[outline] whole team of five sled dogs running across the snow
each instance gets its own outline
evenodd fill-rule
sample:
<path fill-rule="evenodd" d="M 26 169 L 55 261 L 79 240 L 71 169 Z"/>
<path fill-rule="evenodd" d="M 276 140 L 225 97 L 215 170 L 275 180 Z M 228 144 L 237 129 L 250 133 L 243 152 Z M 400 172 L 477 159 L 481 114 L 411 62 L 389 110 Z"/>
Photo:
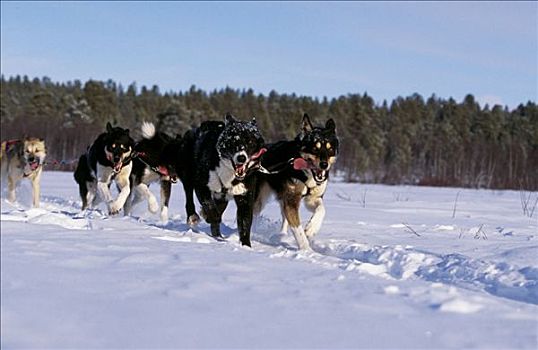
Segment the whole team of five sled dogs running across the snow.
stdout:
<path fill-rule="evenodd" d="M 200 215 L 210 225 L 211 235 L 222 238 L 222 214 L 233 199 L 239 239 L 250 246 L 253 216 L 275 195 L 282 212 L 282 233 L 291 230 L 299 249 L 310 249 L 325 216 L 323 195 L 339 149 L 333 119 L 325 126 L 313 126 L 305 114 L 295 139 L 272 144 L 265 143 L 255 119 L 241 121 L 230 114 L 224 121 L 202 122 L 175 138 L 148 122 L 142 123 L 140 131 L 142 139 L 135 142 L 128 129 L 107 123 L 106 131 L 80 156 L 74 178 L 82 210 L 104 202 L 109 214 L 123 209 L 129 215 L 134 205 L 145 200 L 150 212 L 160 209 L 165 222 L 172 183 L 180 180 L 189 225 L 200 221 L 194 205 L 196 193 Z M 9 201 L 15 201 L 17 183 L 28 178 L 33 205 L 39 206 L 45 156 L 41 139 L 2 143 L 2 178 L 8 180 Z M 110 191 L 112 182 L 118 189 L 115 197 Z M 160 204 L 149 190 L 154 182 L 161 187 Z M 301 200 L 312 212 L 304 227 L 299 216 Z"/>

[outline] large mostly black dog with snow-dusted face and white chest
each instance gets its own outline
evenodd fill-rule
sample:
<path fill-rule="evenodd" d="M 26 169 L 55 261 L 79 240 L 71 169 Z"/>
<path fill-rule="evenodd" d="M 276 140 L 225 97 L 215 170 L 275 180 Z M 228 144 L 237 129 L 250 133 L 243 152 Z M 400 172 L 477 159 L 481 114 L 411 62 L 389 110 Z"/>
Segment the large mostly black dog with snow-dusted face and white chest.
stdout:
<path fill-rule="evenodd" d="M 193 151 L 190 161 L 193 171 L 187 182 L 194 186 L 202 205 L 201 215 L 210 224 L 211 234 L 222 237 L 222 213 L 233 198 L 237 205 L 239 239 L 241 244 L 250 246 L 257 179 L 253 173 L 265 152 L 264 139 L 255 119 L 243 122 L 227 114 L 224 122 L 206 121 L 188 131 L 184 138 L 186 149 L 190 143 Z"/>

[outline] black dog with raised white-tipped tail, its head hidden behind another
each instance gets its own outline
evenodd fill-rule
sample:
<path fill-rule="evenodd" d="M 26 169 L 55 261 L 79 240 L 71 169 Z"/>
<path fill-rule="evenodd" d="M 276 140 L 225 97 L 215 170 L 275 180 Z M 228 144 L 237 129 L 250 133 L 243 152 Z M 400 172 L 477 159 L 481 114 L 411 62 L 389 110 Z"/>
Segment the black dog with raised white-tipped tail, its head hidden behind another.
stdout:
<path fill-rule="evenodd" d="M 153 123 L 144 122 L 141 127 L 142 140 L 134 147 L 131 171 L 131 192 L 125 202 L 124 213 L 129 215 L 133 206 L 146 199 L 148 210 L 156 213 L 159 204 L 149 185 L 159 182 L 161 186 L 161 221 L 168 221 L 168 204 L 172 183 L 181 175 L 182 138 L 156 131 Z"/>

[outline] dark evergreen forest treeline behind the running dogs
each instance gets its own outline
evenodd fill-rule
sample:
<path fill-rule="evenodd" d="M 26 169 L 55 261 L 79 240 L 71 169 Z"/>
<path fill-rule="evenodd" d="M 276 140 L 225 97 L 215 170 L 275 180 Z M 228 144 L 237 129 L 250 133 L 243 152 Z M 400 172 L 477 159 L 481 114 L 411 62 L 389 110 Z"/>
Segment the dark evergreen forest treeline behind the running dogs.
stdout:
<path fill-rule="evenodd" d="M 303 113 L 316 123 L 334 118 L 340 138 L 336 169 L 347 181 L 387 184 L 538 189 L 538 107 L 484 106 L 467 95 L 418 94 L 376 104 L 364 94 L 318 99 L 256 94 L 251 89 L 161 92 L 112 80 L 58 83 L 1 77 L 2 140 L 46 140 L 49 159 L 72 168 L 106 122 L 132 130 L 153 121 L 170 135 L 231 112 L 256 117 L 266 141 L 295 137 Z"/>

